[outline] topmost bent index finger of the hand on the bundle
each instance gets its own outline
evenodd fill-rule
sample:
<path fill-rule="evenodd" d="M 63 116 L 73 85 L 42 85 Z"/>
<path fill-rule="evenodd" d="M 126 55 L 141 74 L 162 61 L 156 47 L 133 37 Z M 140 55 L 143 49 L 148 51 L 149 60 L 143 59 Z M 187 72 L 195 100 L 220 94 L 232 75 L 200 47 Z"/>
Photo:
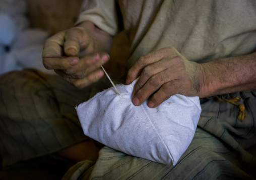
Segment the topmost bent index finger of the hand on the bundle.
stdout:
<path fill-rule="evenodd" d="M 140 76 L 142 70 L 146 66 L 160 61 L 162 58 L 163 56 L 161 56 L 158 51 L 151 52 L 147 55 L 140 57 L 132 66 L 132 68 L 127 72 L 126 84 L 131 84 L 135 79 Z"/>

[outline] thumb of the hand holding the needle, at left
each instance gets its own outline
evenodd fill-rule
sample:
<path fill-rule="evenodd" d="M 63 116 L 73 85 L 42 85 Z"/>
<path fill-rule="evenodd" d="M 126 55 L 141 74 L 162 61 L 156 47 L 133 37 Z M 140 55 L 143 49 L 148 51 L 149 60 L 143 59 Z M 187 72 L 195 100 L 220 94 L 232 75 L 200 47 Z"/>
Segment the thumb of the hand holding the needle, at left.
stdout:
<path fill-rule="evenodd" d="M 85 49 L 89 44 L 89 37 L 83 31 L 82 27 L 67 31 L 64 42 L 64 52 L 67 56 L 78 56 L 80 50 Z"/>

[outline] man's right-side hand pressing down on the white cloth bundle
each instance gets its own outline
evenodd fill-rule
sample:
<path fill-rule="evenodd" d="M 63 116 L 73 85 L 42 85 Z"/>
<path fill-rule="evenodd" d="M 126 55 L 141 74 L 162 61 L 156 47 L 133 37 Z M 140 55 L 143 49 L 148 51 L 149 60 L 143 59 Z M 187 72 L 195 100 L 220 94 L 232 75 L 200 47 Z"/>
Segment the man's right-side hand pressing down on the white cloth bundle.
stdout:
<path fill-rule="evenodd" d="M 151 108 L 175 94 L 199 96 L 204 77 L 200 64 L 186 60 L 173 47 L 142 56 L 129 70 L 126 84 L 139 76 L 132 101 L 134 105 L 141 105 L 150 98 L 148 106 Z"/>

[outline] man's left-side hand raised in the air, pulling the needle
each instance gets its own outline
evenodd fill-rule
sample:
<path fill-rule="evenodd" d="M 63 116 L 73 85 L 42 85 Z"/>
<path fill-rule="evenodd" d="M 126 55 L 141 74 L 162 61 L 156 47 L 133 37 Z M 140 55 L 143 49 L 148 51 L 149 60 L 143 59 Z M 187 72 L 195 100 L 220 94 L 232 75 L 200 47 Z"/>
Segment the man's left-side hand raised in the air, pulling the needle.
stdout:
<path fill-rule="evenodd" d="M 49 38 L 42 53 L 46 69 L 83 88 L 103 77 L 101 65 L 109 60 L 112 37 L 91 22 L 57 33 Z"/>

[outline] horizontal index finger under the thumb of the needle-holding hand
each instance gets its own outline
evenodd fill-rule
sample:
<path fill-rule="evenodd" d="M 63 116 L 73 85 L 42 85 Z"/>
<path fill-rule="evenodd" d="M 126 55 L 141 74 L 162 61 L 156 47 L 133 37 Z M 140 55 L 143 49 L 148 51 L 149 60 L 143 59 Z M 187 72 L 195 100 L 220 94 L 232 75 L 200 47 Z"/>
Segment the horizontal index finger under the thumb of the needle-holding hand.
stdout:
<path fill-rule="evenodd" d="M 68 69 L 79 62 L 78 57 L 43 57 L 43 65 L 46 69 Z"/>

